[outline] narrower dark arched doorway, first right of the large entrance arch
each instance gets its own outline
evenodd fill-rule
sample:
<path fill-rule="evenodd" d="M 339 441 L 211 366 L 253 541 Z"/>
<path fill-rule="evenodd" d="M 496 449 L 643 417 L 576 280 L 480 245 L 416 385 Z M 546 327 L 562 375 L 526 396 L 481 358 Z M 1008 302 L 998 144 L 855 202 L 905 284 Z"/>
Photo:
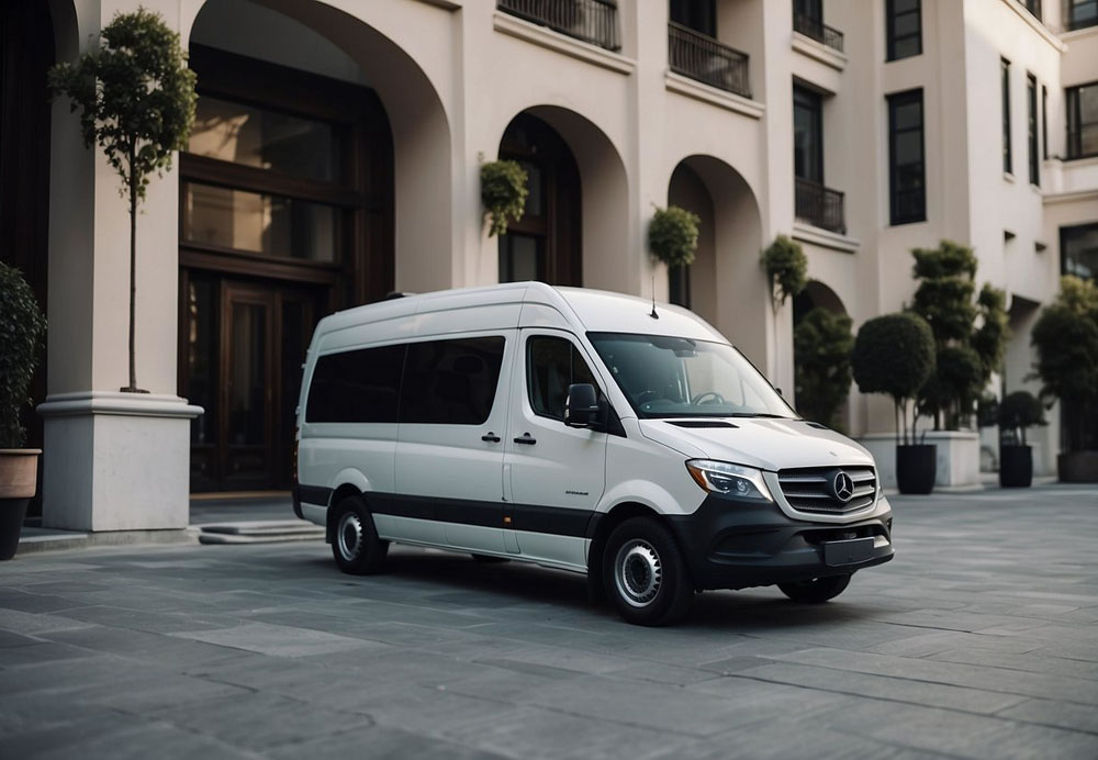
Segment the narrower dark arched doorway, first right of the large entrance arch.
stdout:
<path fill-rule="evenodd" d="M 541 119 L 520 113 L 500 141 L 500 158 L 526 170 L 526 212 L 500 236 L 500 282 L 583 282 L 580 169 L 568 143 Z"/>

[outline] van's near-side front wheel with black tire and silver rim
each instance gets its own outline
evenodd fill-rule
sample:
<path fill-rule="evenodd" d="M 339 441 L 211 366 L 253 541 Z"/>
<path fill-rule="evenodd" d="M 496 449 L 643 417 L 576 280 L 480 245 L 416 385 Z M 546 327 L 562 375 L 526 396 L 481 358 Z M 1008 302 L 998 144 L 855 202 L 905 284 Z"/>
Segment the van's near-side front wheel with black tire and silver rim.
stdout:
<path fill-rule="evenodd" d="M 603 589 L 634 625 L 670 625 L 694 599 L 690 569 L 674 536 L 657 521 L 632 517 L 617 526 L 603 551 Z"/>

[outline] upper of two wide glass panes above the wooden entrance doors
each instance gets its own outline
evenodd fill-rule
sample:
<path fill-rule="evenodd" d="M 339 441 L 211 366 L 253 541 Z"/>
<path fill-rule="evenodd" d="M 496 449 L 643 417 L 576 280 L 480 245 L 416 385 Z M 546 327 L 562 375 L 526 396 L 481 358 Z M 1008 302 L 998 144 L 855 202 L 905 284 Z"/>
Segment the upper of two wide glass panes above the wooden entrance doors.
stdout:
<path fill-rule="evenodd" d="M 330 124 L 209 96 L 199 98 L 187 149 L 309 179 L 337 179 Z"/>

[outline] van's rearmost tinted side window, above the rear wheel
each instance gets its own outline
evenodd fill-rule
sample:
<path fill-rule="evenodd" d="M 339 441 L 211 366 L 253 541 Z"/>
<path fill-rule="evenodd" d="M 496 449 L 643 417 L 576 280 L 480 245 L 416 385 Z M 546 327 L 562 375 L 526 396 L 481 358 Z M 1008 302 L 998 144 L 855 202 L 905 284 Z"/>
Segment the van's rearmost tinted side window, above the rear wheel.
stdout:
<path fill-rule="evenodd" d="M 396 422 L 401 346 L 326 354 L 316 360 L 306 422 Z"/>

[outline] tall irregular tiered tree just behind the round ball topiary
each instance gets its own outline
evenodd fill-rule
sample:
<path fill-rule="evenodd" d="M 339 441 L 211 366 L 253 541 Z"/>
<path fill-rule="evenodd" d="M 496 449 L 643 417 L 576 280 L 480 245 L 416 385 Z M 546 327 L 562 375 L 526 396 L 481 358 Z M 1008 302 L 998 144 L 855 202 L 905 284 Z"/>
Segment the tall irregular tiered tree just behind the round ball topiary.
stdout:
<path fill-rule="evenodd" d="M 919 280 L 911 310 L 930 325 L 937 351 L 918 409 L 933 417 L 934 429 L 955 428 L 1002 364 L 1006 294 L 985 284 L 974 300 L 977 260 L 968 246 L 942 241 L 911 255 Z"/>

